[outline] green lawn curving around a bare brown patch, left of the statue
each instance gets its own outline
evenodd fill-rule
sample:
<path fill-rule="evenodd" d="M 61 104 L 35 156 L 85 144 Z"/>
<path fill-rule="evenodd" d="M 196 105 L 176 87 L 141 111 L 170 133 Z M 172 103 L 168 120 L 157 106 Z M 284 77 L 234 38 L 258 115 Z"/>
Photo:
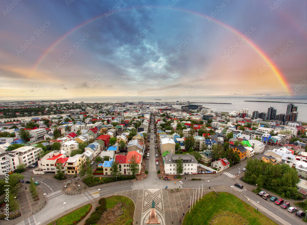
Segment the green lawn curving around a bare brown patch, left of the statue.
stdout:
<path fill-rule="evenodd" d="M 115 196 L 107 197 L 106 202 L 107 202 L 107 209 L 113 208 L 117 203 L 122 202 L 122 210 L 124 213 L 118 217 L 115 223 L 103 223 L 103 224 L 105 225 L 133 224 L 134 203 L 130 198 L 127 198 L 121 195 L 115 195 Z"/>

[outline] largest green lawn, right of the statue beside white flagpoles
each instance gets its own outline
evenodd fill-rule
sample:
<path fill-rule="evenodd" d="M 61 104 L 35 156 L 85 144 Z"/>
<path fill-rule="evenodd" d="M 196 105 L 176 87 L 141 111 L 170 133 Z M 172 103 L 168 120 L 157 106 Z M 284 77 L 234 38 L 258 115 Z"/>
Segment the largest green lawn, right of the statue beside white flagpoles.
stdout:
<path fill-rule="evenodd" d="M 222 216 L 220 216 L 221 214 Z M 214 218 L 215 216 L 216 218 Z M 212 218 L 214 219 L 212 220 Z M 203 199 L 196 203 L 196 206 L 193 206 L 191 213 L 186 213 L 182 224 L 205 225 L 210 223 L 212 225 L 243 225 L 244 223 L 249 225 L 277 224 L 262 213 L 257 212 L 256 209 L 247 203 L 226 192 L 219 192 L 219 195 L 211 192 L 203 196 Z"/>

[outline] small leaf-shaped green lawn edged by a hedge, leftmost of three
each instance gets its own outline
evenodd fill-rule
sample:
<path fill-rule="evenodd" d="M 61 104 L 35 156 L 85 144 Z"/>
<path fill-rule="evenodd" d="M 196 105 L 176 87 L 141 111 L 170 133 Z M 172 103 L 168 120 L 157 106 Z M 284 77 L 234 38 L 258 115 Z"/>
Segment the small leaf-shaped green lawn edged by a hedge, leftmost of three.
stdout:
<path fill-rule="evenodd" d="M 59 219 L 52 221 L 52 223 L 56 222 L 56 225 L 76 224 L 87 215 L 87 213 L 91 210 L 91 206 L 92 204 L 87 204 L 80 208 L 77 208 L 76 210 L 66 214 L 65 216 L 62 216 Z M 60 222 L 58 223 L 58 221 Z M 52 223 L 49 223 L 48 225 L 52 225 Z"/>

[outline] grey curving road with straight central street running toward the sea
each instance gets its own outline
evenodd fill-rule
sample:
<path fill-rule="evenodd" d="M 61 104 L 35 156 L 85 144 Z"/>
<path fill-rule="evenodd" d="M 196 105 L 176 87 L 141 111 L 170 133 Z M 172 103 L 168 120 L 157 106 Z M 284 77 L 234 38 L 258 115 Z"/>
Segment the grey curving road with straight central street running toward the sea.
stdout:
<path fill-rule="evenodd" d="M 171 209 L 173 211 L 167 212 L 169 208 L 164 208 L 164 204 L 166 204 L 168 199 L 168 191 L 164 189 L 165 186 L 168 186 L 169 189 L 177 189 L 181 188 L 184 192 L 181 193 L 185 194 L 185 199 L 187 201 L 181 202 L 181 210 L 185 210 L 188 206 L 188 199 L 190 198 L 190 195 L 194 192 L 198 192 L 199 190 L 202 191 L 202 187 L 204 188 L 204 194 L 208 193 L 208 191 L 212 191 L 215 187 L 219 190 L 226 191 L 226 192 L 232 192 L 236 196 L 238 196 L 238 193 L 241 193 L 241 199 L 243 196 L 243 201 L 248 202 L 252 207 L 256 208 L 257 202 L 259 202 L 259 210 L 261 212 L 265 213 L 269 218 L 273 219 L 274 221 L 277 221 L 279 224 L 305 224 L 301 221 L 301 218 L 295 216 L 295 213 L 290 213 L 287 210 L 284 210 L 280 208 L 279 206 L 275 205 L 274 203 L 270 201 L 266 201 L 262 199 L 260 196 L 256 195 L 255 193 L 251 192 L 251 189 L 253 189 L 253 186 L 246 184 L 245 182 L 241 182 L 243 184 L 244 188 L 239 189 L 238 187 L 232 187 L 235 182 L 237 182 L 236 175 L 239 173 L 239 178 L 242 178 L 244 175 L 244 172 L 242 169 L 245 167 L 246 162 L 242 162 L 239 165 L 235 165 L 235 167 L 229 169 L 228 171 L 221 172 L 218 175 L 216 174 L 197 174 L 197 175 L 187 175 L 186 177 L 183 177 L 181 179 L 181 182 L 177 181 L 176 184 L 173 181 L 165 181 L 160 180 L 157 176 L 157 170 L 159 170 L 160 165 L 155 164 L 155 154 L 157 154 L 157 150 L 155 149 L 155 143 L 154 143 L 154 132 L 153 132 L 153 123 L 150 125 L 150 135 L 153 137 L 153 140 L 150 139 L 150 159 L 146 162 L 146 169 L 148 170 L 148 174 L 144 174 L 144 178 L 142 180 L 138 180 L 137 182 L 125 182 L 125 183 L 112 183 L 111 186 L 97 186 L 95 189 L 89 188 L 87 191 L 83 191 L 80 194 L 69 196 L 66 195 L 62 191 L 62 187 L 64 186 L 64 183 L 54 183 L 48 178 L 44 177 L 33 177 L 35 180 L 38 180 L 39 182 L 43 182 L 41 184 L 41 188 L 44 192 L 49 193 L 47 195 L 47 205 L 45 208 L 43 208 L 40 212 L 34 214 L 33 216 L 30 216 L 29 218 L 24 219 L 21 221 L 20 225 L 38 225 L 38 224 L 46 224 L 47 222 L 50 223 L 52 220 L 63 216 L 66 211 L 72 211 L 73 209 L 76 209 L 80 207 L 80 205 L 84 205 L 88 202 L 93 203 L 93 201 L 98 200 L 100 197 L 103 196 L 110 196 L 114 194 L 122 194 L 127 197 L 130 197 L 131 199 L 135 199 L 134 204 L 136 205 L 135 209 L 135 219 L 139 220 L 142 219 L 142 215 L 140 217 L 139 213 L 143 213 L 145 211 L 140 211 L 138 208 L 140 204 L 142 206 L 145 205 L 145 193 L 151 197 L 157 197 L 161 194 L 161 205 L 163 206 L 163 212 L 161 211 L 161 215 L 176 215 L 178 212 L 174 212 L 176 209 Z M 257 158 L 260 157 L 256 156 Z M 145 178 L 146 176 L 146 178 Z M 25 174 L 25 177 L 29 179 L 30 174 L 29 171 Z M 185 179 L 186 178 L 186 179 Z M 192 181 L 190 178 L 201 178 L 200 181 Z M 224 186 L 223 186 L 224 185 Z M 208 187 L 211 187 L 209 189 Z M 98 188 L 100 189 L 98 192 Z M 190 191 L 189 191 L 190 190 Z M 50 191 L 53 191 L 50 193 Z M 186 196 L 188 194 L 188 196 Z M 165 203 L 163 203 L 165 201 Z M 180 200 L 181 201 L 181 200 Z M 65 205 L 63 203 L 66 203 Z M 148 203 L 146 203 L 148 204 Z M 142 208 L 142 207 L 141 207 Z M 146 208 L 146 207 L 145 207 Z M 143 210 L 143 208 L 142 208 Z M 178 214 L 179 215 L 179 214 Z M 182 215 L 182 212 L 181 212 Z M 173 217 L 172 217 L 173 219 Z M 134 221 L 135 224 L 136 221 Z M 176 223 L 177 224 L 177 223 Z"/>

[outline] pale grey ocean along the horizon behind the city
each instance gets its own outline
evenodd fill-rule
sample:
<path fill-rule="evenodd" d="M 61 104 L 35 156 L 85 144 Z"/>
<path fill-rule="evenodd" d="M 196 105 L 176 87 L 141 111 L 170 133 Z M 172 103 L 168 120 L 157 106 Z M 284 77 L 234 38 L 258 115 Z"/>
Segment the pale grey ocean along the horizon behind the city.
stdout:
<path fill-rule="evenodd" d="M 286 113 L 287 104 L 294 103 L 297 106 L 298 116 L 297 121 L 307 122 L 307 99 L 264 99 L 264 98 L 242 98 L 237 94 L 229 97 L 197 97 L 197 96 L 91 96 L 82 97 L 76 99 L 73 97 L 49 97 L 49 98 L 33 98 L 24 100 L 59 100 L 68 99 L 70 102 L 80 103 L 101 103 L 101 102 L 173 102 L 175 105 L 173 107 L 181 108 L 182 105 L 177 105 L 176 102 L 193 102 L 194 104 L 199 104 L 204 107 L 210 108 L 212 111 L 223 111 L 223 112 L 238 112 L 242 108 L 248 109 L 248 114 L 252 114 L 253 111 L 267 112 L 269 107 L 274 107 L 277 109 L 277 114 Z M 0 99 L 2 100 L 21 100 L 21 99 Z M 272 103 L 272 102 L 246 102 L 246 101 L 280 101 L 283 103 Z M 231 103 L 231 104 L 212 104 L 212 103 Z M 306 103 L 306 104 L 302 104 Z M 1 121 L 1 120 L 0 120 Z"/>

